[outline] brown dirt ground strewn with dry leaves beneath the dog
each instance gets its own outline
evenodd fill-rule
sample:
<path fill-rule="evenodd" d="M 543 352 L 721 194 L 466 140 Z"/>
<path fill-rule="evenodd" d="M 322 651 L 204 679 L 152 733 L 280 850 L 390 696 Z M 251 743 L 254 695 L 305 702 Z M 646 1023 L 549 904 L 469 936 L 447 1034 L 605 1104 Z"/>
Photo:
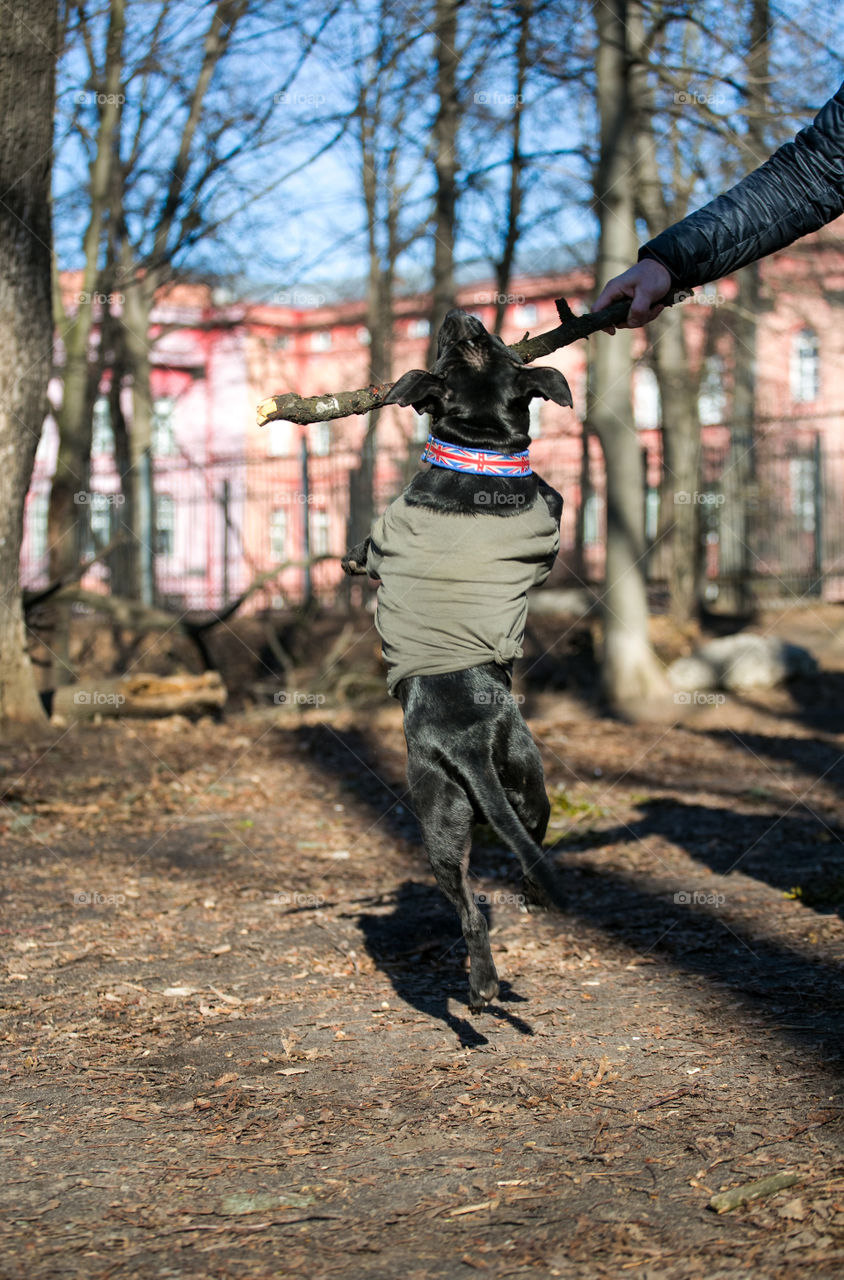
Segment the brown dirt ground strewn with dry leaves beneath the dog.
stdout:
<path fill-rule="evenodd" d="M 844 611 L 780 630 L 675 724 L 528 689 L 569 905 L 479 832 L 476 1016 L 385 699 L 0 751 L 0 1275 L 841 1275 Z"/>

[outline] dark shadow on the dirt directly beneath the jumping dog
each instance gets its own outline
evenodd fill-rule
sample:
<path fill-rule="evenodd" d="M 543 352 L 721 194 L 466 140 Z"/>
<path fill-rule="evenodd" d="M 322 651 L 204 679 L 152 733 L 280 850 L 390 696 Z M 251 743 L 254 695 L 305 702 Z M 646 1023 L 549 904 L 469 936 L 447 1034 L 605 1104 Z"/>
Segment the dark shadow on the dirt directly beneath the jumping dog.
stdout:
<path fill-rule="evenodd" d="M 455 933 L 457 922 L 438 888 L 406 879 L 383 901 L 391 902 L 389 913 L 361 911 L 356 920 L 366 951 L 389 978 L 400 1000 L 443 1021 L 464 1048 L 489 1043 L 479 1029 L 484 1018 L 506 1020 L 521 1036 L 534 1034 L 529 1023 L 503 1007 L 525 1001 L 506 982 L 498 1000 L 480 1015 L 467 1011 L 467 1016 L 459 1016 L 450 1009 L 450 1002 L 466 1005 L 465 975 L 455 980 L 459 957 L 466 954 L 466 947 L 462 936 Z"/>

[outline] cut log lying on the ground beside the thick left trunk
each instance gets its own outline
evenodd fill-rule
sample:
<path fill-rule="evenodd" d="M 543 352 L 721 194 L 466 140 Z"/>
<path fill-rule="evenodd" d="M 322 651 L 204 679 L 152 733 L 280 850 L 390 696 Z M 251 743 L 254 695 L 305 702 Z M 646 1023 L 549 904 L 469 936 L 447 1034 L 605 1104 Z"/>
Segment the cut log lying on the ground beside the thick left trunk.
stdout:
<path fill-rule="evenodd" d="M 207 716 L 222 710 L 225 698 L 225 685 L 216 671 L 201 676 L 134 672 L 118 680 L 90 680 L 56 689 L 53 714 L 65 721 L 97 716 Z"/>

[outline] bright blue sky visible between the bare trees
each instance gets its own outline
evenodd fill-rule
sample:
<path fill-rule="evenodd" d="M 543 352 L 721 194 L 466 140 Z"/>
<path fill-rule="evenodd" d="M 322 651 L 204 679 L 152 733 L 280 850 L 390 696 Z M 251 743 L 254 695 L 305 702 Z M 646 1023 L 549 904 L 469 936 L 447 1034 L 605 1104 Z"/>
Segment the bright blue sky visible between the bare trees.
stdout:
<path fill-rule="evenodd" d="M 159 8 L 137 0 L 129 3 L 129 63 L 141 61 L 149 44 L 150 22 Z M 210 8 L 182 0 L 173 9 L 169 29 L 179 50 L 179 68 L 190 68 L 199 58 Z M 699 204 L 736 177 L 735 155 L 729 145 L 706 131 L 704 109 L 729 123 L 738 102 L 730 81 L 740 76 L 740 55 L 731 47 L 731 33 L 718 32 L 716 38 L 706 31 L 706 19 L 717 15 L 720 6 L 702 4 L 695 8 L 704 29 L 685 50 L 686 60 L 698 68 L 684 83 L 686 101 L 671 104 L 665 96 L 667 90 L 661 90 L 657 105 L 674 111 L 688 134 L 688 160 L 699 169 L 693 204 Z M 199 243 L 183 256 L 184 266 L 232 275 L 241 289 L 264 296 L 295 287 L 311 287 L 315 294 L 360 292 L 368 260 L 359 161 L 351 133 L 307 168 L 295 170 L 348 124 L 356 82 L 366 77 L 370 29 L 366 23 L 361 24 L 361 15 L 368 9 L 374 6 L 361 0 L 353 10 L 333 19 L 292 81 L 302 38 L 319 29 L 324 5 L 312 4 L 310 12 L 302 9 L 298 33 L 270 20 L 274 9 L 265 5 L 238 35 L 225 82 L 209 95 L 211 119 L 219 123 L 227 111 L 234 111 L 248 120 L 250 113 L 260 113 L 272 102 L 272 141 L 260 151 L 247 148 L 213 184 L 204 211 L 228 218 L 228 221 L 213 242 Z M 461 6 L 461 15 L 459 38 L 464 41 L 464 67 L 469 70 L 475 55 L 475 45 L 469 38 L 473 6 Z M 556 83 L 557 51 L 553 45 L 543 47 L 539 42 L 537 51 L 544 58 L 546 70 L 534 74 L 526 92 L 524 145 L 528 151 L 542 154 L 532 174 L 525 209 L 529 227 L 519 251 L 519 266 L 530 271 L 589 261 L 594 247 L 597 223 L 589 207 L 589 177 L 597 122 L 587 15 L 588 6 L 578 4 L 557 5 L 553 14 L 561 41 L 558 65 L 566 69 L 580 58 L 580 74 L 569 83 Z M 772 15 L 774 96 L 788 111 L 772 114 L 771 146 L 791 136 L 799 124 L 808 123 L 811 110 L 838 88 L 841 58 L 836 50 L 844 44 L 840 6 L 831 13 L 818 13 L 817 6 L 785 3 L 772 6 Z M 406 15 L 398 9 L 393 17 L 401 31 L 401 19 L 406 20 Z M 101 47 L 101 23 L 95 26 L 95 36 Z M 572 50 L 570 41 L 581 47 Z M 506 174 L 496 169 L 494 163 L 506 154 L 507 140 L 503 134 L 491 138 L 482 132 L 479 115 L 483 111 L 487 120 L 497 116 L 502 125 L 507 124 L 512 90 L 511 70 L 505 64 L 507 47 L 505 41 L 501 49 L 489 51 L 483 68 L 464 90 L 467 115 L 460 147 L 461 177 L 473 174 L 459 206 L 457 259 L 464 276 L 480 278 L 489 273 L 502 230 Z M 432 61 L 433 56 L 433 41 L 423 33 L 410 58 L 424 70 L 425 59 Z M 55 232 L 59 259 L 65 266 L 79 264 L 85 219 L 85 201 L 79 200 L 79 193 L 85 188 L 87 157 L 73 124 L 96 127 L 95 92 L 77 41 L 60 64 L 56 124 Z M 126 84 L 126 99 L 124 155 L 131 131 L 142 116 L 149 116 L 142 134 L 142 175 L 132 197 L 137 230 L 141 210 L 155 207 L 168 180 L 168 161 L 184 118 L 184 104 L 177 86 L 154 74 L 147 76 L 143 84 L 133 77 Z M 401 209 L 403 227 L 423 224 L 429 210 L 433 188 L 425 145 L 433 109 L 430 93 L 423 86 L 403 122 L 401 177 L 407 184 Z M 231 140 L 223 131 L 220 143 L 236 137 L 237 131 Z M 423 234 L 401 259 L 400 276 L 407 287 L 425 285 L 430 257 L 430 237 Z"/>

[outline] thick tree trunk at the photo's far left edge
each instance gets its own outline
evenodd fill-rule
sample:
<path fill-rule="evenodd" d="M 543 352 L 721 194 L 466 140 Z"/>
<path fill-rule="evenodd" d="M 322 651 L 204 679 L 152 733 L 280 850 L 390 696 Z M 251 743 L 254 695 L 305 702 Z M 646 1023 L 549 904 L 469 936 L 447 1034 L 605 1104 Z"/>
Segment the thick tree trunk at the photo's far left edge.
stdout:
<path fill-rule="evenodd" d="M 6 10 L 0 42 L 0 732 L 46 724 L 26 646 L 23 507 L 53 360 L 50 170 L 56 0 Z"/>

